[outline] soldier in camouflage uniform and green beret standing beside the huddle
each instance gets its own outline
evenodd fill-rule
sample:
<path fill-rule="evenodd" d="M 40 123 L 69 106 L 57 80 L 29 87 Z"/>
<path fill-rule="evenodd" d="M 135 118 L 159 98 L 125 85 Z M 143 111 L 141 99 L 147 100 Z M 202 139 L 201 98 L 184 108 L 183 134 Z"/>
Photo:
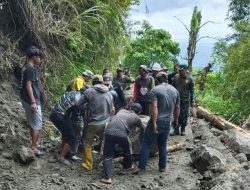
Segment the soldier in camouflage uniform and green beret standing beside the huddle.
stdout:
<path fill-rule="evenodd" d="M 179 74 L 174 77 L 173 86 L 180 94 L 180 118 L 179 124 L 174 127 L 174 132 L 171 135 L 179 135 L 180 127 L 181 135 L 184 136 L 189 116 L 189 105 L 194 106 L 194 80 L 187 73 L 187 65 L 182 64 L 179 67 Z"/>

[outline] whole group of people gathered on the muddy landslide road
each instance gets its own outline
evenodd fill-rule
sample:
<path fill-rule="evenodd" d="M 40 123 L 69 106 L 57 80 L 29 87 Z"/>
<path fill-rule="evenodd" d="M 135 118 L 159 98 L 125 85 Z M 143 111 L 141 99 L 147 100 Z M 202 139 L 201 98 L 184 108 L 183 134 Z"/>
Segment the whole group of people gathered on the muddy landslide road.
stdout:
<path fill-rule="evenodd" d="M 41 63 L 44 55 L 34 46 L 26 51 L 26 55 L 20 95 L 32 137 L 31 148 L 40 156 L 44 154 L 45 147 L 39 144 L 41 90 L 35 65 Z M 79 143 L 83 142 L 84 161 L 81 166 L 87 171 L 92 170 L 92 148 L 98 136 L 104 166 L 104 178 L 100 181 L 111 184 L 112 159 L 117 145 L 123 150 L 124 170 L 139 173 L 146 169 L 150 145 L 156 137 L 159 171 L 165 171 L 170 128 L 173 125 L 172 135 L 185 135 L 189 106 L 194 105 L 194 82 L 187 74 L 186 65 L 175 65 L 174 72 L 170 74 L 158 63 L 152 66 L 152 72 L 145 65 L 141 65 L 138 71 L 139 76 L 132 80 L 129 69 L 124 73 L 118 68 L 115 77 L 108 69 L 104 69 L 102 75 L 85 70 L 82 76 L 67 85 L 66 92 L 50 113 L 50 120 L 62 134 L 59 163 L 70 165 L 68 158 L 77 154 Z M 133 95 L 127 99 L 124 92 L 131 88 L 132 83 Z M 139 114 L 150 116 L 146 126 L 142 124 Z M 143 133 L 138 167 L 132 164 L 132 143 L 129 139 L 134 127 L 140 128 Z"/>

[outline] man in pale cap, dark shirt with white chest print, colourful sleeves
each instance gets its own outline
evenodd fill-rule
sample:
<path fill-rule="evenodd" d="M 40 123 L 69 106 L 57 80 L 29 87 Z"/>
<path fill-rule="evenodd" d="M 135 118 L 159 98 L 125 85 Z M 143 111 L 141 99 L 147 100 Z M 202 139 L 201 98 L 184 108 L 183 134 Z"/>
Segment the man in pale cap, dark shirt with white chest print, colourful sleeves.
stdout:
<path fill-rule="evenodd" d="M 143 115 L 149 115 L 149 92 L 154 86 L 154 78 L 148 75 L 147 67 L 141 65 L 139 67 L 139 76 L 135 79 L 132 101 L 137 102 L 142 106 Z"/>

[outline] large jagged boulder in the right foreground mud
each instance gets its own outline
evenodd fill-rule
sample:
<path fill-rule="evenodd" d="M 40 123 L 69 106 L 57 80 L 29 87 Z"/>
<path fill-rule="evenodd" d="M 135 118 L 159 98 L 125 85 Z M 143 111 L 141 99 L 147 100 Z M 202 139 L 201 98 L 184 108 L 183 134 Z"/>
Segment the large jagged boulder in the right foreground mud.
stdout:
<path fill-rule="evenodd" d="M 200 173 L 208 171 L 211 167 L 226 164 L 226 159 L 218 150 L 205 145 L 195 148 L 190 155 L 194 167 Z"/>

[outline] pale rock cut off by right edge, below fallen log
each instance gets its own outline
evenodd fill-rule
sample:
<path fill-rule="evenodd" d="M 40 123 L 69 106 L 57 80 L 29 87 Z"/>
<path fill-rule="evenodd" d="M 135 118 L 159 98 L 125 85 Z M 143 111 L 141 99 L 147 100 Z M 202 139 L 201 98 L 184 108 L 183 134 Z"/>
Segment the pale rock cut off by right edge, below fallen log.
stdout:
<path fill-rule="evenodd" d="M 235 129 L 224 134 L 224 143 L 237 153 L 244 153 L 250 160 L 250 136 Z"/>

